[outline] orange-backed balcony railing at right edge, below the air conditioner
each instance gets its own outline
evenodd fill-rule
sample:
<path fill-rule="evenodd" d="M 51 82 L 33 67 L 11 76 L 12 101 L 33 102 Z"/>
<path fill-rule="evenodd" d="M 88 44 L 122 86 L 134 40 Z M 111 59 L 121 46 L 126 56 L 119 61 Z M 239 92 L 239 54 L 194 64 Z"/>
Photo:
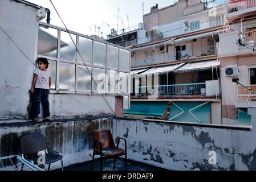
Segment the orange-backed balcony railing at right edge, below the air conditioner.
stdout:
<path fill-rule="evenodd" d="M 248 88 L 254 90 L 249 91 L 243 86 L 237 86 L 237 100 L 238 101 L 247 101 L 247 100 L 256 100 L 256 85 L 249 85 Z"/>

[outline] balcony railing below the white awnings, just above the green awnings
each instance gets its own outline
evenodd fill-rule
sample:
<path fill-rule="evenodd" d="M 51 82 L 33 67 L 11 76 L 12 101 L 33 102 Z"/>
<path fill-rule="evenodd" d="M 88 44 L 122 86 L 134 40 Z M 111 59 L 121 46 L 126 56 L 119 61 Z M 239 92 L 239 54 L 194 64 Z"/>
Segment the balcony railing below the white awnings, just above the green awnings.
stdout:
<path fill-rule="evenodd" d="M 137 86 L 135 96 L 191 96 L 206 94 L 206 84 Z"/>

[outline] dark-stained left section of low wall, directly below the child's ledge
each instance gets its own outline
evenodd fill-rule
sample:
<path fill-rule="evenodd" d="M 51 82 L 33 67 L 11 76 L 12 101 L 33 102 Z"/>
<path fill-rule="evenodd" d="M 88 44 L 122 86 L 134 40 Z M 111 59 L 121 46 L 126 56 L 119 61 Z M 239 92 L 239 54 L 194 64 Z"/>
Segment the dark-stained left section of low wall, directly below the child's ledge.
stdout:
<path fill-rule="evenodd" d="M 27 134 L 44 134 L 47 150 L 61 152 L 64 166 L 69 166 L 92 159 L 93 131 L 111 129 L 112 118 L 27 124 L 27 126 L 17 126 L 17 123 L 13 125 L 0 127 L 0 156 L 21 155 L 21 137 Z M 52 169 L 54 168 L 60 168 L 60 162 L 54 163 Z"/>

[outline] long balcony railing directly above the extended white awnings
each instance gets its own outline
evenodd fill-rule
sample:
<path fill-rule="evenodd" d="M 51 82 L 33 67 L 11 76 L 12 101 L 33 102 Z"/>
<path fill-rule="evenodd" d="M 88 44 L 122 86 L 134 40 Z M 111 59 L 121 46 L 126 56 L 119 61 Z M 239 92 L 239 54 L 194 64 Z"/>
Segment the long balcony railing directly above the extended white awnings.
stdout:
<path fill-rule="evenodd" d="M 174 53 L 161 53 L 154 56 L 142 57 L 140 59 L 132 59 L 132 67 L 141 67 L 149 64 L 167 63 L 184 59 L 197 59 L 198 57 L 216 55 L 216 46 L 201 47 L 198 49 L 189 49 Z"/>

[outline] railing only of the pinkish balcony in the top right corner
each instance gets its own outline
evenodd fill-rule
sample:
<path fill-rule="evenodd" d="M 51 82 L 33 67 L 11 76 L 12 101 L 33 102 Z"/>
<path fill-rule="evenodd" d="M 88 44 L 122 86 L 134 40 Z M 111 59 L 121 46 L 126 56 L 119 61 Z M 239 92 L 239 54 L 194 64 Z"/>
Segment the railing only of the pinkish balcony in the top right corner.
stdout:
<path fill-rule="evenodd" d="M 229 0 L 226 6 L 227 13 L 233 13 L 256 6 L 256 0 Z"/>

